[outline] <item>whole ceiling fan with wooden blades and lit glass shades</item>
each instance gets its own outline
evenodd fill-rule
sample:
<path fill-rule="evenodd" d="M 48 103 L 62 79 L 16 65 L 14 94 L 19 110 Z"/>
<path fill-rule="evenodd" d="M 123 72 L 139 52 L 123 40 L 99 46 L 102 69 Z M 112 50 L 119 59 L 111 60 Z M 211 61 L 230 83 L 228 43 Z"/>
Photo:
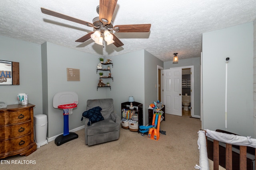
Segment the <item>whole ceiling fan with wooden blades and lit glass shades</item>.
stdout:
<path fill-rule="evenodd" d="M 60 14 L 58 12 L 54 12 L 45 8 L 41 8 L 42 13 L 55 16 L 58 18 L 62 18 L 64 20 L 73 21 L 76 23 L 80 23 L 86 25 L 88 27 L 93 27 L 96 31 L 92 31 L 83 37 L 76 40 L 76 42 L 85 42 L 88 39 L 92 38 L 95 43 L 103 45 L 103 38 L 107 42 L 107 45 L 113 43 L 116 47 L 121 47 L 124 44 L 114 35 L 114 33 L 110 33 L 109 31 L 116 32 L 149 32 L 151 24 L 132 24 L 132 25 L 115 25 L 113 26 L 112 16 L 114 14 L 114 10 L 116 8 L 117 0 L 100 0 L 100 5 L 97 6 L 96 11 L 99 14 L 98 17 L 92 20 L 92 23 L 79 20 L 70 16 L 66 16 L 64 14 Z"/>

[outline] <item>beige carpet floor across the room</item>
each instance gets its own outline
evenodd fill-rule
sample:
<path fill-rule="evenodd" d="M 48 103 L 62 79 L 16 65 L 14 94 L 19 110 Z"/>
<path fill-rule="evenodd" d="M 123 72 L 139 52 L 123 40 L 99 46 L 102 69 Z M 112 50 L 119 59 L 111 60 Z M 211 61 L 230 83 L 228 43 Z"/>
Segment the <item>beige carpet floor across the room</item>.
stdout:
<path fill-rule="evenodd" d="M 194 170 L 199 165 L 197 145 L 200 119 L 166 114 L 160 124 L 160 139 L 154 141 L 129 129 L 120 129 L 116 141 L 85 145 L 84 129 L 78 139 L 56 146 L 54 141 L 28 156 L 0 160 L 4 170 Z M 210 169 L 212 162 L 209 160 Z M 220 168 L 221 169 L 221 168 Z"/>

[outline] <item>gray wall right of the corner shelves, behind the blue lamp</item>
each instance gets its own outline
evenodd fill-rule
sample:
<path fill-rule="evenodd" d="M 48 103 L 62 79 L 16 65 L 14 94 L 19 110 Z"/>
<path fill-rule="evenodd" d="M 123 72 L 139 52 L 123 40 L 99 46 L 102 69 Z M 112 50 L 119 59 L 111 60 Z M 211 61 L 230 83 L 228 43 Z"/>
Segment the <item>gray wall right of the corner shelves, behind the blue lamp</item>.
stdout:
<path fill-rule="evenodd" d="M 144 106 L 144 50 L 110 57 L 114 82 L 106 89 L 106 97 L 114 99 L 114 111 L 121 117 L 121 103 L 133 96 Z"/>

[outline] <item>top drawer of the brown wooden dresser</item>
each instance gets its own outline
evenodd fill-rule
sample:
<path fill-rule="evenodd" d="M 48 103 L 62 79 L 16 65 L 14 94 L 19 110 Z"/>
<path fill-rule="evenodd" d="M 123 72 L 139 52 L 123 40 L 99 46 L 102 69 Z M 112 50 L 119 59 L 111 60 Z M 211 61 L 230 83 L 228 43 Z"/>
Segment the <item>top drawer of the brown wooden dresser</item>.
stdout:
<path fill-rule="evenodd" d="M 30 109 L 0 114 L 0 125 L 22 123 L 30 120 Z"/>

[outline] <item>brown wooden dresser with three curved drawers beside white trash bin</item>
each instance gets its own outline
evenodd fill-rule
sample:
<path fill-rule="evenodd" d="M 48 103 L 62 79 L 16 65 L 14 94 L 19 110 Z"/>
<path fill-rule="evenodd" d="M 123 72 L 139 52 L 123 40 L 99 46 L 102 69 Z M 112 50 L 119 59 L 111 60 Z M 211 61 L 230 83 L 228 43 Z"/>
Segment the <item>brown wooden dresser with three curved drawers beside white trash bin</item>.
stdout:
<path fill-rule="evenodd" d="M 0 109 L 0 159 L 16 154 L 28 156 L 37 149 L 34 106 L 14 104 Z"/>

